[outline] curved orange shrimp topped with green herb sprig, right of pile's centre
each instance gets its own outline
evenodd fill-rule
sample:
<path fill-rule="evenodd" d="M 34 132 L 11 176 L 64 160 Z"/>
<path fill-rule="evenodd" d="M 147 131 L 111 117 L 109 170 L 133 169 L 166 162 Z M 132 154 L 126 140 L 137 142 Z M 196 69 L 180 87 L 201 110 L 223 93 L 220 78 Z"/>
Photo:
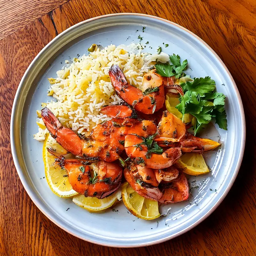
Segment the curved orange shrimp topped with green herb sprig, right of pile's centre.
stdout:
<path fill-rule="evenodd" d="M 142 142 L 143 139 L 139 136 L 133 134 L 125 136 L 125 152 L 136 164 L 145 164 L 146 167 L 152 169 L 164 169 L 174 164 L 181 156 L 180 148 L 169 148 L 161 155 L 150 153 L 146 145 L 140 144 Z"/>

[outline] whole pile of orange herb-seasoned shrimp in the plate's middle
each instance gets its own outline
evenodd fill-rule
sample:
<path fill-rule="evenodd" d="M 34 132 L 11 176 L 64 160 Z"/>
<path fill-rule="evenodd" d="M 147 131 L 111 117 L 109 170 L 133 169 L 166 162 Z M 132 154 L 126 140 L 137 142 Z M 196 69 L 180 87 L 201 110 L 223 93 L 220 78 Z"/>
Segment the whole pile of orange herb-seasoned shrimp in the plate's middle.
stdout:
<path fill-rule="evenodd" d="M 102 108 L 111 120 L 98 124 L 88 137 L 64 127 L 47 107 L 42 109 L 52 137 L 76 157 L 58 155 L 56 162 L 67 170 L 73 189 L 84 196 L 109 196 L 125 179 L 138 194 L 161 204 L 186 200 L 188 180 L 175 161 L 183 152 L 208 151 L 219 144 L 193 136 L 178 117 L 164 110 L 165 87 L 180 93 L 182 89 L 154 70 L 143 76 L 144 91 L 129 84 L 117 65 L 109 76 L 125 103 Z"/>

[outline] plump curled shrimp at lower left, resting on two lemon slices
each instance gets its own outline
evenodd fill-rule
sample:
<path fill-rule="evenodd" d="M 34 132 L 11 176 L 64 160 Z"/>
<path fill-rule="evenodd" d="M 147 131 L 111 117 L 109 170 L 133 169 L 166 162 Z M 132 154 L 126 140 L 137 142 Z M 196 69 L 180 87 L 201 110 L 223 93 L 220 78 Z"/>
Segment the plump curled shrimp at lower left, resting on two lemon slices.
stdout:
<path fill-rule="evenodd" d="M 123 169 L 118 164 L 100 161 L 89 166 L 78 159 L 66 159 L 60 162 L 68 172 L 68 180 L 72 188 L 84 196 L 101 199 L 121 186 Z"/>

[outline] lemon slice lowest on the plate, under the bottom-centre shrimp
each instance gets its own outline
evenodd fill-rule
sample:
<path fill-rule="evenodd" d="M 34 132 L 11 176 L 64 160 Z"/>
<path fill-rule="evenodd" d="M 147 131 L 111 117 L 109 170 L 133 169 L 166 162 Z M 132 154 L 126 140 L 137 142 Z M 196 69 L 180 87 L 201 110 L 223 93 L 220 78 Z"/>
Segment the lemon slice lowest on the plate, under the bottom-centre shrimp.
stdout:
<path fill-rule="evenodd" d="M 128 182 L 122 186 L 122 199 L 126 208 L 140 219 L 153 220 L 160 216 L 157 201 L 140 196 Z"/>

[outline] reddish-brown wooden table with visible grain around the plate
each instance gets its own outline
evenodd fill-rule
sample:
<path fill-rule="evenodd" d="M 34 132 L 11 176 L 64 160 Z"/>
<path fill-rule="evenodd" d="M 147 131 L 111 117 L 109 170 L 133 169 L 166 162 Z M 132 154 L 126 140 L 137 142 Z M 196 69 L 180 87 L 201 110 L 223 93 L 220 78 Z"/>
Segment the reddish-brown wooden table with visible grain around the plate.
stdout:
<path fill-rule="evenodd" d="M 255 0 L 2 0 L 0 254 L 256 255 L 255 10 Z M 137 249 L 94 245 L 69 235 L 48 220 L 20 182 L 9 140 L 13 98 L 23 73 L 36 54 L 66 28 L 82 20 L 116 12 L 156 15 L 200 36 L 217 52 L 234 77 L 247 119 L 243 164 L 234 186 L 218 209 L 184 235 Z"/>

